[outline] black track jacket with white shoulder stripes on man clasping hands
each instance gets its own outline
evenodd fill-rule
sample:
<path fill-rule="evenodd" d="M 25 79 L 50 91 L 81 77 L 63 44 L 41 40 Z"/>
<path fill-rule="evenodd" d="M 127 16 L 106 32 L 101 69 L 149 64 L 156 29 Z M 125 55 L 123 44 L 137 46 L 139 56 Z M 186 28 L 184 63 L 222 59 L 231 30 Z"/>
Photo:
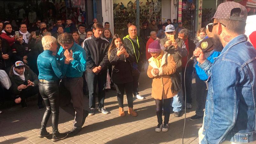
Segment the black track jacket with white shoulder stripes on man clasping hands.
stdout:
<path fill-rule="evenodd" d="M 84 40 L 86 52 L 86 70 L 89 73 L 93 67 L 101 66 L 101 71 L 106 70 L 109 65 L 107 56 L 109 42 L 105 38 L 96 38 L 94 35 Z"/>

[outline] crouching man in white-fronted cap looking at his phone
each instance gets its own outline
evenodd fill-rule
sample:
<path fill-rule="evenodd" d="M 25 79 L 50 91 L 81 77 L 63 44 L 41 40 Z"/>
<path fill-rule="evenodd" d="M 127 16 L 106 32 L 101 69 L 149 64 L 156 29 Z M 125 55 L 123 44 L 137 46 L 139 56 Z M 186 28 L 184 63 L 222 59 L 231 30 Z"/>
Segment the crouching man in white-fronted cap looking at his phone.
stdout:
<path fill-rule="evenodd" d="M 16 61 L 10 69 L 9 77 L 16 104 L 21 103 L 22 108 L 27 108 L 26 98 L 38 94 L 38 109 L 44 109 L 38 88 L 38 77 L 28 66 L 22 61 Z"/>

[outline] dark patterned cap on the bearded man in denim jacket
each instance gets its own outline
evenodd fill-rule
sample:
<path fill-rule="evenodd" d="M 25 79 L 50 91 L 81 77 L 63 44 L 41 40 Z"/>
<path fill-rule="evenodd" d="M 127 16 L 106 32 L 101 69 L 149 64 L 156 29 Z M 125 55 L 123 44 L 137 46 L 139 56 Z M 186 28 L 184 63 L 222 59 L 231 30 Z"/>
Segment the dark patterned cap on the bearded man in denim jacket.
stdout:
<path fill-rule="evenodd" d="M 238 8 L 241 10 L 239 16 L 231 16 L 230 13 L 233 9 Z M 246 21 L 247 18 L 247 10 L 246 8 L 236 2 L 225 2 L 218 6 L 217 11 L 215 12 L 212 20 L 216 19 L 225 19 L 225 20 L 238 20 L 238 21 Z"/>

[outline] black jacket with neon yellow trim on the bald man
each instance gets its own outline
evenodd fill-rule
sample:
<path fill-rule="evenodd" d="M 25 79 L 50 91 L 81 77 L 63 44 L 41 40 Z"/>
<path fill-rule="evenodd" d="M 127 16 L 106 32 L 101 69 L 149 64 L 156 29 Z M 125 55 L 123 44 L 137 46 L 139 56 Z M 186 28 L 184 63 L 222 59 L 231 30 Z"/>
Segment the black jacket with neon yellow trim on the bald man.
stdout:
<path fill-rule="evenodd" d="M 137 40 L 139 42 L 139 47 L 136 43 L 127 35 L 123 38 L 124 40 L 124 47 L 126 48 L 126 51 L 129 55 L 132 55 L 135 58 L 135 61 L 137 63 L 145 62 L 146 61 L 146 48 L 143 43 L 143 40 L 140 37 L 137 37 Z"/>

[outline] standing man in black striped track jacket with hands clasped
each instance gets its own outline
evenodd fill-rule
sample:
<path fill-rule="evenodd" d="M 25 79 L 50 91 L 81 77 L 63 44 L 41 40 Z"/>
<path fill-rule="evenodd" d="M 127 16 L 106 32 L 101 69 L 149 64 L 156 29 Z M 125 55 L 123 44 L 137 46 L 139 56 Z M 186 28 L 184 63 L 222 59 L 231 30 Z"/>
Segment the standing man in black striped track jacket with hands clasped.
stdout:
<path fill-rule="evenodd" d="M 101 37 L 103 25 L 94 23 L 92 25 L 93 35 L 84 40 L 83 47 L 86 51 L 86 70 L 87 83 L 89 89 L 89 115 L 94 114 L 96 103 L 96 84 L 98 83 L 98 102 L 99 112 L 107 114 L 104 107 L 105 86 L 107 77 L 107 67 L 110 64 L 108 60 L 109 42 Z"/>

